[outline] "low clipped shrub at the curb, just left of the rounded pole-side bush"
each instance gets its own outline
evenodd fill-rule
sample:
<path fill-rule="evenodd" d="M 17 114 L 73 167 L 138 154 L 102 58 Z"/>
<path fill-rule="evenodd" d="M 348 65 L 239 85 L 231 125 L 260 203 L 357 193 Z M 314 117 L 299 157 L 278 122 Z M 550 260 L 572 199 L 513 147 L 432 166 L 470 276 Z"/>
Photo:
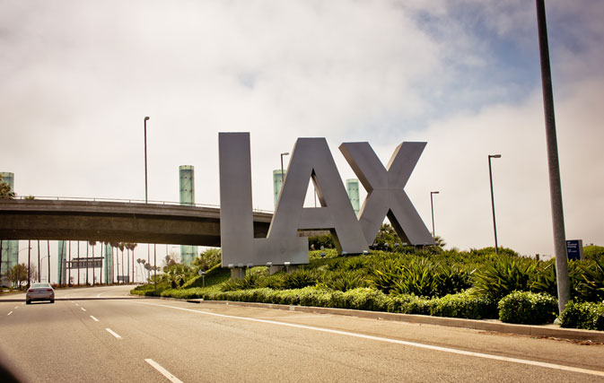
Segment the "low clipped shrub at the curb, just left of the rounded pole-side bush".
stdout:
<path fill-rule="evenodd" d="M 435 298 L 428 303 L 430 315 L 434 317 L 485 319 L 497 318 L 495 300 L 477 296 L 471 292 L 450 294 Z"/>

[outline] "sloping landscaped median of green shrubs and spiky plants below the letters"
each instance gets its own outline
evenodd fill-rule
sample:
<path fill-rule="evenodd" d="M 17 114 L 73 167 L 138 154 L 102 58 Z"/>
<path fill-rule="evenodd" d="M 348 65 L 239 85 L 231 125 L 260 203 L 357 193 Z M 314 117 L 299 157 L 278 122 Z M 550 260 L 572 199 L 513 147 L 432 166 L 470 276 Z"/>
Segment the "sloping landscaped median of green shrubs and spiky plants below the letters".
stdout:
<path fill-rule="evenodd" d="M 488 249 L 464 253 L 438 248 L 376 251 L 356 257 L 337 257 L 334 251 L 326 257 L 311 253 L 311 264 L 292 273 L 269 275 L 266 267 L 253 267 L 244 279 L 232 281 L 228 269 L 214 267 L 205 280 L 185 274 L 179 280 L 183 282 L 176 283 L 168 279 L 176 275 L 167 270 L 157 289 L 146 284 L 133 293 L 447 318 L 498 318 L 532 325 L 559 318 L 563 327 L 601 331 L 602 265 L 598 259 L 569 265 L 573 301 L 560 316 L 551 293 L 556 292 L 555 264 L 518 257 L 511 250 L 497 256 Z M 202 283 L 205 287 L 200 287 Z M 179 284 L 180 288 L 174 288 Z"/>

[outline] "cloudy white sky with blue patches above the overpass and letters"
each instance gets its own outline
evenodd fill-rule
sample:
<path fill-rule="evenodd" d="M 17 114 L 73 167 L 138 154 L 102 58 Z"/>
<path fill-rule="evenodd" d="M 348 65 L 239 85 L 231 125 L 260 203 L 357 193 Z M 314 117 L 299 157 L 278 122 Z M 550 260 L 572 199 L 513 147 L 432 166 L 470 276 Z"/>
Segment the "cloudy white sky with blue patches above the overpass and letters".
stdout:
<path fill-rule="evenodd" d="M 604 244 L 604 3 L 547 1 L 568 239 Z M 407 194 L 449 247 L 551 254 L 535 4 L 0 0 L 0 171 L 20 196 L 219 205 L 218 132 L 250 132 L 254 207 L 297 137 L 426 141 Z"/>

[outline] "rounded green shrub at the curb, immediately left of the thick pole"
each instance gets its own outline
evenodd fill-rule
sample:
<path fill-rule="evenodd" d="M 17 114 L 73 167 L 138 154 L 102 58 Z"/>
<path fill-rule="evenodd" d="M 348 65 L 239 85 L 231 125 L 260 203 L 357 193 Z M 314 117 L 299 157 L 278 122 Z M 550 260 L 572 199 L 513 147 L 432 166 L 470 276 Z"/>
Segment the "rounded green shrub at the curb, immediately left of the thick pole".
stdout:
<path fill-rule="evenodd" d="M 512 292 L 500 300 L 497 307 L 502 322 L 540 325 L 554 321 L 558 303 L 545 293 Z"/>

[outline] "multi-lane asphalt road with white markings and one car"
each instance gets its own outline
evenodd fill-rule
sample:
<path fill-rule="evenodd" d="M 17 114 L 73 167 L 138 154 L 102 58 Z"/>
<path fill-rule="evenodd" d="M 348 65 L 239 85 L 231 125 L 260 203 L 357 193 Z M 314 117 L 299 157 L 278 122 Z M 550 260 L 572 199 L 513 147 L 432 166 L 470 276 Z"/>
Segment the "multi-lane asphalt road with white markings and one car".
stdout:
<path fill-rule="evenodd" d="M 218 303 L 129 287 L 0 298 L 2 361 L 32 382 L 604 381 L 604 345 Z M 21 301 L 13 301 L 21 299 Z"/>

